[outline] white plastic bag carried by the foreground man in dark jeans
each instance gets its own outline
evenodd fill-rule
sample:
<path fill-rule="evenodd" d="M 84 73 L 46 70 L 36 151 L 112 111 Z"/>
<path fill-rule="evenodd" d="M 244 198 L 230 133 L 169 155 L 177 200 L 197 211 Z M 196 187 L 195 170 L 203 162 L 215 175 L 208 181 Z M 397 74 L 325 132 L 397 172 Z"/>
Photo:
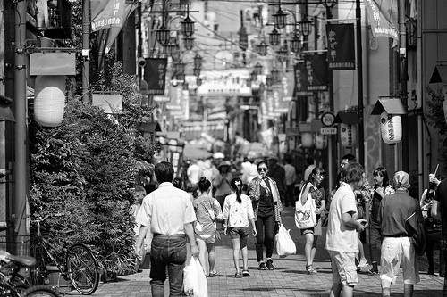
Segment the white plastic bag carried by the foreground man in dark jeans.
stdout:
<path fill-rule="evenodd" d="M 207 276 L 196 257 L 191 257 L 183 270 L 183 292 L 187 296 L 208 297 Z"/>

